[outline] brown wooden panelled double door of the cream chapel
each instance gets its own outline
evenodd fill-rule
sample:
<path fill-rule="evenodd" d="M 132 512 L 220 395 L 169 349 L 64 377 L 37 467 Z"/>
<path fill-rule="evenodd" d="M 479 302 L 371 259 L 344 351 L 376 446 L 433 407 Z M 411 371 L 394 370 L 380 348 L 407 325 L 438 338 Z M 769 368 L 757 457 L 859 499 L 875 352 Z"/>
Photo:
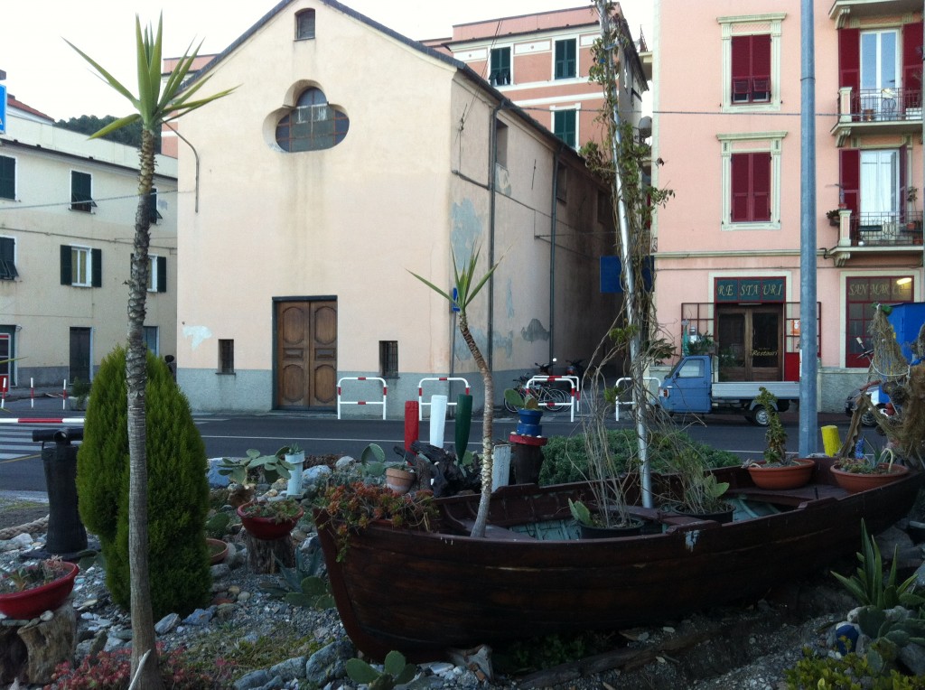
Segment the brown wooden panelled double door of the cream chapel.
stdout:
<path fill-rule="evenodd" d="M 337 404 L 338 303 L 276 302 L 276 407 Z"/>

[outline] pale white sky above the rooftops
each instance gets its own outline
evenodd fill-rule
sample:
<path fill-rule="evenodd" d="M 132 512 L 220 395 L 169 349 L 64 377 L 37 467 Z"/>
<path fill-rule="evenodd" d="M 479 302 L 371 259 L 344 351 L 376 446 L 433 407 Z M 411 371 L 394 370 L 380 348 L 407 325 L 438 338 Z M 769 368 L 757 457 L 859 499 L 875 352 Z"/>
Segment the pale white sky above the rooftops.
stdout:
<path fill-rule="evenodd" d="M 453 24 L 587 6 L 584 0 L 342 0 L 357 12 L 415 39 L 449 37 Z M 652 0 L 620 5 L 633 38 L 639 28 L 652 44 Z M 277 0 L 4 0 L 0 17 L 0 69 L 20 102 L 58 119 L 125 116 L 129 102 L 95 76 L 65 40 L 137 92 L 135 16 L 156 26 L 164 15 L 164 56 L 191 43 L 220 53 L 250 29 Z"/>

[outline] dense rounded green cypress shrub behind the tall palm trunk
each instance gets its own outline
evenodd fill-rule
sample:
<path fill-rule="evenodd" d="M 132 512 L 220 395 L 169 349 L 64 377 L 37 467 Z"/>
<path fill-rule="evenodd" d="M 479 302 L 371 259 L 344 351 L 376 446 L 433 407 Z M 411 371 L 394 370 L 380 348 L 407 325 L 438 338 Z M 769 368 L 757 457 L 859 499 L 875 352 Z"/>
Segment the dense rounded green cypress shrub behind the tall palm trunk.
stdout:
<path fill-rule="evenodd" d="M 154 618 L 185 615 L 211 590 L 205 518 L 209 487 L 205 447 L 189 401 L 166 363 L 148 352 L 148 564 Z M 129 434 L 125 350 L 117 348 L 93 382 L 84 440 L 78 451 L 80 517 L 100 538 L 106 586 L 130 607 Z"/>

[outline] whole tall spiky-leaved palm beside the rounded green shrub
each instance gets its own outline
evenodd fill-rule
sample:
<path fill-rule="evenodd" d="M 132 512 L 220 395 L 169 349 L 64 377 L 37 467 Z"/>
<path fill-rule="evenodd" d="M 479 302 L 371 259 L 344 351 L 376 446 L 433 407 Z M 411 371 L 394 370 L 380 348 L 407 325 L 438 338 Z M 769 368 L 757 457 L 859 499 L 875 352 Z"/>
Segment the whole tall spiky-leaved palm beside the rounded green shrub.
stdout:
<path fill-rule="evenodd" d="M 129 347 L 126 357 L 129 431 L 129 569 L 131 579 L 131 668 L 140 690 L 163 688 L 154 651 L 154 616 L 148 576 L 148 473 L 145 450 L 145 386 L 147 385 L 146 346 L 143 338 L 145 300 L 148 286 L 148 245 L 151 240 L 150 195 L 154 179 L 154 141 L 162 126 L 200 108 L 233 89 L 195 100 L 208 79 L 184 88 L 199 46 L 180 58 L 166 81 L 161 81 L 161 45 L 163 15 L 157 21 L 157 33 L 149 24 L 142 34 L 142 22 L 135 16 L 135 39 L 138 64 L 138 95 L 129 92 L 105 68 L 73 43 L 67 42 L 113 89 L 129 99 L 135 112 L 120 117 L 100 129 L 91 139 L 136 122 L 142 124 L 142 148 L 139 152 L 138 208 L 135 211 L 134 253 L 129 277 Z M 190 48 L 192 44 L 190 44 Z M 145 661 L 147 659 L 147 661 Z"/>

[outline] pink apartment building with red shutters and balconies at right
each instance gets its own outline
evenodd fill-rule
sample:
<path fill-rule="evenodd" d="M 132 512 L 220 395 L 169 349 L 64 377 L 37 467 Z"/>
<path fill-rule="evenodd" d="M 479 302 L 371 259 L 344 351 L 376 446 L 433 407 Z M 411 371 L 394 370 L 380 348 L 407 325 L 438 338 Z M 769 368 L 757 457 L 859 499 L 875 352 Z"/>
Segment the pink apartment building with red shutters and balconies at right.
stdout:
<path fill-rule="evenodd" d="M 872 304 L 922 299 L 921 9 L 815 3 L 820 411 L 867 373 Z M 654 19 L 660 325 L 679 351 L 709 335 L 731 379 L 797 380 L 800 2 L 657 0 Z"/>

